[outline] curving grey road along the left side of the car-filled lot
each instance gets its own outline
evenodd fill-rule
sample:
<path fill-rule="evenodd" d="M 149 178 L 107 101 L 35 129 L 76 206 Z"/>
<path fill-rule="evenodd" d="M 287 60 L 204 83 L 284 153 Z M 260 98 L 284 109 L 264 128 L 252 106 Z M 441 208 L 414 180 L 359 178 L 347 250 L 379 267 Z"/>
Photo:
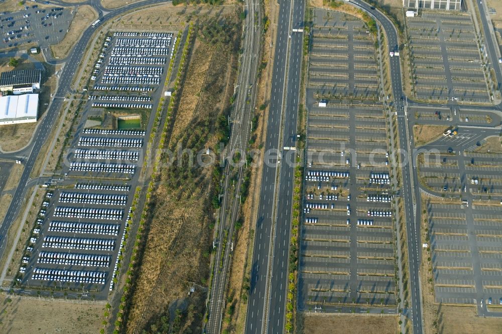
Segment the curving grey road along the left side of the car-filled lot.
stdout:
<path fill-rule="evenodd" d="M 72 49 L 71 53 L 66 59 L 66 63 L 63 70 L 60 73 L 58 87 L 54 93 L 54 97 L 46 111 L 46 115 L 40 120 L 40 124 L 34 133 L 31 145 L 23 151 L 23 155 L 26 155 L 24 161 L 25 169 L 21 176 L 19 185 L 13 196 L 13 200 L 7 210 L 6 216 L 2 225 L 0 226 L 0 258 L 4 256 L 7 247 L 7 234 L 12 223 L 16 220 L 20 213 L 23 200 L 27 195 L 27 183 L 30 179 L 30 174 L 34 168 L 34 165 L 39 162 L 38 155 L 42 146 L 48 142 L 49 135 L 56 124 L 61 106 L 63 105 L 64 98 L 67 94 L 71 93 L 73 90 L 70 87 L 71 81 L 78 69 L 78 66 L 82 63 L 82 57 L 85 53 L 85 48 L 91 40 L 92 34 L 99 26 L 103 25 L 105 22 L 113 19 L 114 17 L 130 11 L 132 9 L 137 9 L 146 5 L 165 3 L 163 0 L 148 0 L 144 2 L 136 2 L 128 6 L 120 7 L 116 10 L 109 11 L 106 15 L 100 17 L 101 23 L 95 27 L 89 27 L 82 34 L 82 37 Z M 19 153 L 18 153 L 19 154 Z M 3 155 L 0 155 L 3 157 Z"/>

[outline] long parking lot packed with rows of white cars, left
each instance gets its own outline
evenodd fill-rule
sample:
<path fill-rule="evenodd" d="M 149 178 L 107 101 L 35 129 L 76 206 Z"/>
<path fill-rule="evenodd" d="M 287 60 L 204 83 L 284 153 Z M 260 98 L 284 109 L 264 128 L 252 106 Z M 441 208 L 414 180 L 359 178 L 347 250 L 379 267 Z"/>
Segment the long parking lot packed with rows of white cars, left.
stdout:
<path fill-rule="evenodd" d="M 131 223 L 130 208 L 145 156 L 145 140 L 153 123 L 151 114 L 163 95 L 160 84 L 166 81 L 166 66 L 172 56 L 170 37 L 172 33 L 118 32 L 106 38 L 96 62 L 100 66 L 92 73 L 98 89 L 90 89 L 83 114 L 127 114 L 128 109 L 144 109 L 147 117 L 142 118 L 142 129 L 118 128 L 118 124 L 103 128 L 95 123 L 86 127 L 88 120 L 82 118 L 61 171 L 73 188 L 56 187 L 47 193 L 21 264 L 19 279 L 24 286 L 65 284 L 69 289 L 99 290 L 98 298 L 106 298 L 113 289 Z M 117 43 L 120 48 L 155 45 L 167 51 L 161 56 L 152 51 L 141 57 L 125 55 L 129 64 L 117 68 L 109 61 Z M 156 64 L 155 70 L 152 64 Z M 112 74 L 113 78 L 130 79 L 113 85 L 104 81 Z M 149 107 L 144 106 L 147 104 Z"/>

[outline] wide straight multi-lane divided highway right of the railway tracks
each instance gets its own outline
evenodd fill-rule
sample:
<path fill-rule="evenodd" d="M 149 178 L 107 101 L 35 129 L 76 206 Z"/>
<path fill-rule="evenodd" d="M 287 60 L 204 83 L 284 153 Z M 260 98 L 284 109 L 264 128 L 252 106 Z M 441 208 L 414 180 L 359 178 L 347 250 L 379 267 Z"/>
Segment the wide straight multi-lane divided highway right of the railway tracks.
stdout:
<path fill-rule="evenodd" d="M 246 333 L 284 332 L 305 3 L 279 6 Z"/>

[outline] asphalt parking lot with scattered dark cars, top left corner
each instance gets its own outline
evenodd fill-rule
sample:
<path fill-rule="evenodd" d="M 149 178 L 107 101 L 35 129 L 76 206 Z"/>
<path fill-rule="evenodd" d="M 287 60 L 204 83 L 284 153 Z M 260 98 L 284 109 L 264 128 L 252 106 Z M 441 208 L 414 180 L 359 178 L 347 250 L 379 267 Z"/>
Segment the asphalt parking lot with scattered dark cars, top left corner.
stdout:
<path fill-rule="evenodd" d="M 35 8 L 33 8 L 35 7 Z M 58 44 L 65 36 L 74 12 L 62 7 L 38 8 L 26 3 L 19 12 L 2 12 L 0 15 L 0 34 L 2 47 L 16 47 L 38 42 L 39 47 Z"/>

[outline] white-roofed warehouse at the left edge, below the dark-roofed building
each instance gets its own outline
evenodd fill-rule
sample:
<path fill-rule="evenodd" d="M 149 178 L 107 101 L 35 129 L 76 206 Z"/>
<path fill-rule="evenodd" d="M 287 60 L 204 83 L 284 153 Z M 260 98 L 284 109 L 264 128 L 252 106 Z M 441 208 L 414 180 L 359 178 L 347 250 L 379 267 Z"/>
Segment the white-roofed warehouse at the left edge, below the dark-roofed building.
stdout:
<path fill-rule="evenodd" d="M 38 94 L 0 97 L 0 125 L 37 121 Z"/>

